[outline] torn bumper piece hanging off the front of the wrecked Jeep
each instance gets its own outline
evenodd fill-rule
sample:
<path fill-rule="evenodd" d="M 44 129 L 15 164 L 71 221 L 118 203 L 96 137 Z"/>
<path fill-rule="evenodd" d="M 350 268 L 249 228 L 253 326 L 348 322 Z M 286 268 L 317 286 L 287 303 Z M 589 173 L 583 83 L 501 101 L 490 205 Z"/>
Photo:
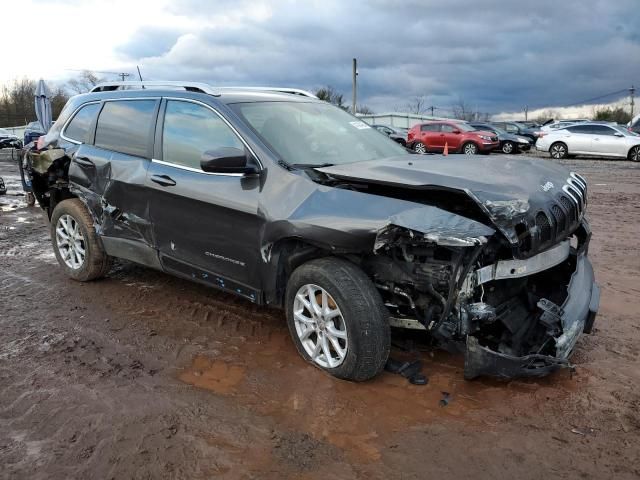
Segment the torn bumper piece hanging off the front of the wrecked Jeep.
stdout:
<path fill-rule="evenodd" d="M 478 339 L 467 337 L 464 377 L 500 378 L 542 377 L 560 368 L 571 367 L 569 357 L 580 334 L 590 333 L 600 304 L 600 289 L 595 283 L 593 267 L 586 255 L 577 258 L 576 270 L 569 283 L 562 306 L 545 301 L 545 315 L 558 315 L 562 334 L 556 337 L 556 356 L 530 354 L 522 357 L 506 355 L 480 345 Z M 555 308 L 553 308 L 555 307 Z"/>

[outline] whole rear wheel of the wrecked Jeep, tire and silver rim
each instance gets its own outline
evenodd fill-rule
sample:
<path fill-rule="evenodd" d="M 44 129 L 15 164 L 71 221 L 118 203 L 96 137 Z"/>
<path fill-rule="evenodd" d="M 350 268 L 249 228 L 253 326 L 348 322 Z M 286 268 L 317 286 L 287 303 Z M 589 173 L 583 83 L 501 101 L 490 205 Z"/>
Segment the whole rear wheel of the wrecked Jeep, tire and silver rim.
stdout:
<path fill-rule="evenodd" d="M 63 200 L 51 215 L 51 242 L 58 263 L 73 280 L 104 277 L 112 259 L 100 242 L 93 218 L 77 198 Z"/>

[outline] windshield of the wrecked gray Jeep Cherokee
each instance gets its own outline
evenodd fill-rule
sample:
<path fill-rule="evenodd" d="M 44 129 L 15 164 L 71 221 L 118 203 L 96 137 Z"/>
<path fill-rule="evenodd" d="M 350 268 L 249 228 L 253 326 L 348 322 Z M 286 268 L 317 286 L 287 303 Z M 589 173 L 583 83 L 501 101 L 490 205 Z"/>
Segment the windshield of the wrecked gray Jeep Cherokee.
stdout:
<path fill-rule="evenodd" d="M 375 128 L 328 103 L 254 102 L 230 107 L 289 165 L 339 165 L 407 153 Z"/>

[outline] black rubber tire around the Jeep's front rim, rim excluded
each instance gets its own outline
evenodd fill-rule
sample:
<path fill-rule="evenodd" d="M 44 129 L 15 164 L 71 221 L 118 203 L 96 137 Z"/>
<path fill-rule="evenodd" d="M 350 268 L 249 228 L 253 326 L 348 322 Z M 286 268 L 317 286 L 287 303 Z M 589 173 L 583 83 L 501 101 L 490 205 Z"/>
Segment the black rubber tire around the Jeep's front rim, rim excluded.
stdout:
<path fill-rule="evenodd" d="M 346 355 L 335 368 L 315 363 L 296 331 L 294 301 L 305 285 L 316 285 L 333 298 L 347 332 Z M 298 267 L 289 278 L 285 297 L 289 332 L 302 357 L 331 375 L 361 382 L 384 368 L 391 346 L 389 314 L 373 282 L 354 264 L 338 258 L 321 258 Z"/>

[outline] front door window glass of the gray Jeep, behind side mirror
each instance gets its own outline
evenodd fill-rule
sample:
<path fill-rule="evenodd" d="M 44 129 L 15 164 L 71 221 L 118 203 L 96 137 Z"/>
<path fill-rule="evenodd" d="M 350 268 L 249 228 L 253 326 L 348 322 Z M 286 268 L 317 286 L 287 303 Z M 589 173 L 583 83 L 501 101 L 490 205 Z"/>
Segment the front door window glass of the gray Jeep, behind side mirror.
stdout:
<path fill-rule="evenodd" d="M 200 170 L 202 154 L 244 144 L 211 109 L 197 103 L 167 101 L 162 130 L 162 160 Z"/>

